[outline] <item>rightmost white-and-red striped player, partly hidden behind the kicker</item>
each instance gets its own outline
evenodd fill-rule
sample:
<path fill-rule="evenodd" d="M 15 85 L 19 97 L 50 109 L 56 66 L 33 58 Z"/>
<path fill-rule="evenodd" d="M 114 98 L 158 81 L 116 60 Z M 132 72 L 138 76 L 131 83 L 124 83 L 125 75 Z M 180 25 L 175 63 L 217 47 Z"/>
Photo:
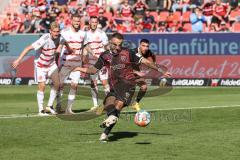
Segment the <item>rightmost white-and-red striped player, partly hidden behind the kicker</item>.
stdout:
<path fill-rule="evenodd" d="M 108 37 L 105 32 L 98 29 L 98 18 L 96 16 L 90 17 L 90 30 L 87 31 L 86 39 L 84 44 L 86 47 L 84 48 L 85 51 L 90 52 L 88 54 L 89 64 L 94 65 L 100 56 L 101 53 L 105 51 L 105 47 L 108 45 Z M 108 70 L 106 67 L 103 67 L 98 73 L 94 75 L 90 75 L 91 78 L 91 93 L 93 99 L 93 107 L 91 110 L 94 110 L 98 107 L 98 87 L 97 87 L 97 80 L 100 79 L 102 81 L 105 94 L 109 92 L 109 85 L 108 85 Z"/>

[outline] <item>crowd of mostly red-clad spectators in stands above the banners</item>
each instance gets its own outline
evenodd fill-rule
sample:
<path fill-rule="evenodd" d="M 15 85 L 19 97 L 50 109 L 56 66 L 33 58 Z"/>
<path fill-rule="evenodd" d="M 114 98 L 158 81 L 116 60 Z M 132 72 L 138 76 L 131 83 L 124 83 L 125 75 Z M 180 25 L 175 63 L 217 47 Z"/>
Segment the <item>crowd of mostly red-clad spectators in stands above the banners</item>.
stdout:
<path fill-rule="evenodd" d="M 240 31 L 238 0 L 22 0 L 18 13 L 1 20 L 0 33 L 46 33 L 53 21 L 63 29 L 74 13 L 83 30 L 98 16 L 107 33 Z"/>

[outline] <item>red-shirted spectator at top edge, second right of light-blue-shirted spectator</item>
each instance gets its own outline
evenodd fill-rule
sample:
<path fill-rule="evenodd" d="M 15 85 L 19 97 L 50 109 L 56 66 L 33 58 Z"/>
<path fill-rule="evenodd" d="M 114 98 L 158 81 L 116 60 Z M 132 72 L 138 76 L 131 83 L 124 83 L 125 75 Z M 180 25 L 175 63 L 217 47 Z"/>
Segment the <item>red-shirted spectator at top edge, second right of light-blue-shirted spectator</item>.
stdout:
<path fill-rule="evenodd" d="M 228 3 L 222 3 L 222 0 L 216 0 L 213 5 L 213 18 L 212 22 L 220 25 L 221 22 L 228 22 L 228 15 L 231 11 L 231 7 Z"/>

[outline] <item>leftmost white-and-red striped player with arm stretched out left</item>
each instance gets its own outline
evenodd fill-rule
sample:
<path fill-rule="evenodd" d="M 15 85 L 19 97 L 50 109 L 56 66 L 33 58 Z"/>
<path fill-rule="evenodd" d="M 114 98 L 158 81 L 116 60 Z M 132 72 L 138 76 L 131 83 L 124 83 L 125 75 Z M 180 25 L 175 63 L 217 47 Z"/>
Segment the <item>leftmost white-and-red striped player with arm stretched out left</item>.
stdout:
<path fill-rule="evenodd" d="M 47 77 L 50 77 L 53 81 L 54 90 L 51 93 L 49 98 L 48 106 L 52 106 L 56 93 L 59 89 L 59 76 L 58 76 L 58 67 L 55 62 L 56 50 L 58 47 L 63 46 L 65 41 L 60 37 L 60 28 L 59 24 L 52 22 L 50 25 L 50 33 L 42 35 L 37 41 L 33 44 L 26 47 L 20 56 L 13 62 L 13 68 L 16 68 L 23 57 L 30 51 L 36 50 L 40 55 L 36 62 L 36 72 L 37 72 L 37 81 L 38 81 L 38 92 L 37 92 L 37 101 L 39 115 L 47 115 L 43 108 L 44 102 L 44 91 L 45 91 L 45 81 Z M 48 108 L 51 113 L 54 113 L 52 108 Z"/>

